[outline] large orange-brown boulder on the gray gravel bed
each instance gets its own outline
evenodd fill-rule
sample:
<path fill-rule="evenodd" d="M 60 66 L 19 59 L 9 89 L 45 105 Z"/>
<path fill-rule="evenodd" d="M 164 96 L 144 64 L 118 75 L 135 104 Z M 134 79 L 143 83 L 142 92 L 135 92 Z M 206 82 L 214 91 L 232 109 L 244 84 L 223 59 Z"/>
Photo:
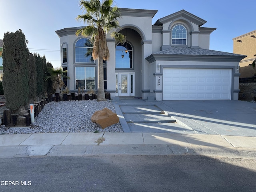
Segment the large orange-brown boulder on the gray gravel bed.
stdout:
<path fill-rule="evenodd" d="M 112 112 L 108 108 L 96 111 L 92 115 L 91 120 L 102 129 L 119 122 L 119 118 L 116 113 Z"/>

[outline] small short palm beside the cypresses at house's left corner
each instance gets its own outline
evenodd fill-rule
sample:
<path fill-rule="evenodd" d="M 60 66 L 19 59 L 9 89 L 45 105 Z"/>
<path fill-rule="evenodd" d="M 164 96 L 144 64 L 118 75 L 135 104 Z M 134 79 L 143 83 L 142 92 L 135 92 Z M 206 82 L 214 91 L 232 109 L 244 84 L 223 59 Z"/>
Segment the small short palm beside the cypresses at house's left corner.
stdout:
<path fill-rule="evenodd" d="M 62 78 L 70 79 L 70 77 L 66 76 L 67 72 L 67 70 L 62 71 L 61 68 L 54 69 L 49 67 L 48 73 L 50 76 L 46 76 L 44 81 L 47 81 L 48 79 L 52 80 L 52 88 L 55 90 L 55 93 L 60 93 L 60 88 L 65 85 Z"/>

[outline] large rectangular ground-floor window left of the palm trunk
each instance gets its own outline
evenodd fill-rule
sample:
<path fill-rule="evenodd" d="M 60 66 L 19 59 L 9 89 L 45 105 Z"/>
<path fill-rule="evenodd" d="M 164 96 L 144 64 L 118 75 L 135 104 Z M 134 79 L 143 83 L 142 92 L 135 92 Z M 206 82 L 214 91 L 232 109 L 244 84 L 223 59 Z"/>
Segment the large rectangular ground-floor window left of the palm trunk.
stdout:
<path fill-rule="evenodd" d="M 76 67 L 76 89 L 95 90 L 95 67 Z"/>

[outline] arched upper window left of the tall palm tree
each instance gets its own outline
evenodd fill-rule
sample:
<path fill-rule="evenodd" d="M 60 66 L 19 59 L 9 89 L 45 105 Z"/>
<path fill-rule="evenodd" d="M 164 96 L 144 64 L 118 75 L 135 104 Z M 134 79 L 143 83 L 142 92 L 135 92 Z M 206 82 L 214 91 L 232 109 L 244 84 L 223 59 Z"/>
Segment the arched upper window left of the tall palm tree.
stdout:
<path fill-rule="evenodd" d="M 81 38 L 75 45 L 76 63 L 94 63 L 92 58 L 92 42 L 87 38 Z"/>

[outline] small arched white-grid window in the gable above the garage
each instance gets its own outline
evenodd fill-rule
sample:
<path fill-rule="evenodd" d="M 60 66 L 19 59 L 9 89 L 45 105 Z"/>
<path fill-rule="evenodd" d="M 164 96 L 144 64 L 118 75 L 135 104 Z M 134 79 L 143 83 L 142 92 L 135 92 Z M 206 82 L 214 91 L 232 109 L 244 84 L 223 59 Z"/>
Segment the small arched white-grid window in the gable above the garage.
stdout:
<path fill-rule="evenodd" d="M 172 45 L 186 45 L 187 30 L 182 25 L 176 25 L 172 29 Z"/>

